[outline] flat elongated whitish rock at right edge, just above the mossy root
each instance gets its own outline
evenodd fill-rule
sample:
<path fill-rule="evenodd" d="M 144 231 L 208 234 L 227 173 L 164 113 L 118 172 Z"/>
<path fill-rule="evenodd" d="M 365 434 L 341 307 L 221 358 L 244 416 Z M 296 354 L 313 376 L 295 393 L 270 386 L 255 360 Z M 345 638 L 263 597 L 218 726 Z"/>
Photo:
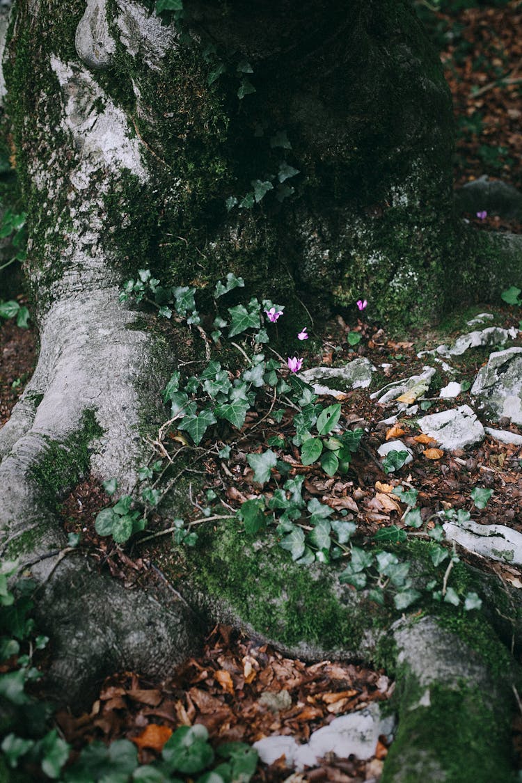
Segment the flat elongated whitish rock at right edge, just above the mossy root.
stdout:
<path fill-rule="evenodd" d="M 472 519 L 454 525 L 446 522 L 444 532 L 448 541 L 455 541 L 469 552 L 511 565 L 522 564 L 522 533 L 505 525 L 479 525 Z"/>

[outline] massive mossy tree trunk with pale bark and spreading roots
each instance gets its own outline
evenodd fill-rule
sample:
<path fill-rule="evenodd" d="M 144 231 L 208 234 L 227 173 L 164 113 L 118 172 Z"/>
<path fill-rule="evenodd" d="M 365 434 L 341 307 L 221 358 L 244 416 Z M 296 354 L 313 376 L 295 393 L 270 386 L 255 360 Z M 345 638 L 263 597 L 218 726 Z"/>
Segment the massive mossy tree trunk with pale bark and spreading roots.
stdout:
<path fill-rule="evenodd" d="M 293 317 L 364 297 L 376 318 L 404 326 L 459 297 L 499 294 L 522 262 L 515 243 L 479 239 L 453 215 L 448 88 L 406 0 L 186 0 L 180 27 L 136 0 L 18 0 L 4 70 L 41 348 L 0 432 L 0 525 L 5 553 L 33 564 L 42 583 L 53 681 L 74 699 L 117 666 L 166 672 L 198 639 L 167 588 L 128 592 L 82 555 L 47 556 L 66 541 L 59 493 L 88 468 L 131 489 L 143 435 L 161 420 L 159 392 L 180 348 L 118 300 L 126 278 L 151 269 L 204 294 L 232 271 L 252 292 L 284 297 Z M 180 491 L 171 505 L 183 502 Z M 250 612 L 253 598 L 232 597 L 214 550 L 241 563 L 250 555 L 220 535 L 192 572 L 200 612 L 303 654 L 401 673 L 387 780 L 509 779 L 502 698 L 514 675 L 490 626 L 478 651 L 475 626 L 459 637 L 395 613 L 365 628 L 367 604 L 318 581 L 305 590 L 325 615 L 324 637 L 308 633 L 311 621 L 287 635 L 288 619 L 271 626 Z M 251 585 L 236 576 L 243 599 L 261 572 L 252 565 Z M 278 575 L 299 579 L 286 565 L 266 572 L 267 590 Z M 465 734 L 455 739 L 454 725 Z"/>

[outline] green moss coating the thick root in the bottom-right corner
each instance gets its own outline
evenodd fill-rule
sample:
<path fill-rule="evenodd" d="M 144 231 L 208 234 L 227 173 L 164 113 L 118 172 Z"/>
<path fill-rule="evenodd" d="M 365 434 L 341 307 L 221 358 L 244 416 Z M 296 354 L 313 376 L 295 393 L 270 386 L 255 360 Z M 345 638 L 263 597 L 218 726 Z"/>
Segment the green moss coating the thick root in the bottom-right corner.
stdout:
<path fill-rule="evenodd" d="M 411 677 L 398 687 L 398 734 L 384 764 L 383 783 L 418 783 L 430 773 L 429 779 L 447 783 L 514 781 L 509 712 L 492 709 L 487 692 L 466 684 L 455 689 L 434 684 L 430 705 L 411 709 L 421 689 Z"/>

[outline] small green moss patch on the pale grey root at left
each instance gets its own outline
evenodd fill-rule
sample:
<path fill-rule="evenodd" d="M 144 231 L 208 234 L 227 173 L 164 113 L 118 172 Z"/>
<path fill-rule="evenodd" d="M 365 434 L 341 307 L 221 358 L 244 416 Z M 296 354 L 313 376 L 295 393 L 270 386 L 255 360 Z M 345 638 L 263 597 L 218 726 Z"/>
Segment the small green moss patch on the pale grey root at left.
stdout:
<path fill-rule="evenodd" d="M 63 442 L 49 439 L 45 453 L 31 469 L 47 507 L 56 509 L 60 494 L 88 473 L 89 444 L 100 435 L 103 430 L 95 420 L 94 411 L 86 410 L 76 432 Z"/>

